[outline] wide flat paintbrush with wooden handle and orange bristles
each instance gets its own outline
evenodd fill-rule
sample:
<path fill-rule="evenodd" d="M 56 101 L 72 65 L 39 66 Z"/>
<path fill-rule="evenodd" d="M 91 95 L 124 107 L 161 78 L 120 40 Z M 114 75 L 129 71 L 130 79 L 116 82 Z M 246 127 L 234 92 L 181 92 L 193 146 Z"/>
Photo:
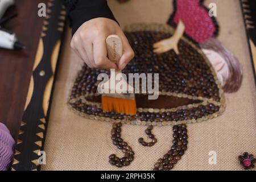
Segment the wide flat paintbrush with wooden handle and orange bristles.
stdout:
<path fill-rule="evenodd" d="M 122 40 L 117 35 L 106 38 L 108 57 L 113 63 L 118 63 L 123 54 Z M 135 115 L 137 107 L 133 86 L 129 85 L 126 77 L 119 69 L 110 70 L 110 79 L 104 83 L 104 93 L 101 97 L 101 106 L 104 111 Z"/>

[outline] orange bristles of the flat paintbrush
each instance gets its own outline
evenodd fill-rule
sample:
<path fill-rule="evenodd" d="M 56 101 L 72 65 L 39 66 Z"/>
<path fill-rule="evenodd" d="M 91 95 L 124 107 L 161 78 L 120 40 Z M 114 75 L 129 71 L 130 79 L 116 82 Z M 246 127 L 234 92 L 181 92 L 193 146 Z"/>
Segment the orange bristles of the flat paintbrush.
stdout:
<path fill-rule="evenodd" d="M 115 111 L 129 115 L 137 114 L 136 102 L 131 99 L 102 96 L 101 106 L 104 111 Z"/>

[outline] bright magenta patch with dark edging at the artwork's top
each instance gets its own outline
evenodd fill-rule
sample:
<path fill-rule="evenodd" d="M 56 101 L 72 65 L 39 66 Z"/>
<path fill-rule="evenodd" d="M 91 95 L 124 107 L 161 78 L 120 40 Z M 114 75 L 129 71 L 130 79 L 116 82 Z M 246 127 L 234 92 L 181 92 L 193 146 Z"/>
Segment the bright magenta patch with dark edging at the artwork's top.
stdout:
<path fill-rule="evenodd" d="M 176 0 L 176 13 L 173 22 L 179 19 L 185 24 L 185 32 L 197 43 L 203 43 L 211 38 L 216 31 L 208 10 L 200 5 L 200 0 Z"/>

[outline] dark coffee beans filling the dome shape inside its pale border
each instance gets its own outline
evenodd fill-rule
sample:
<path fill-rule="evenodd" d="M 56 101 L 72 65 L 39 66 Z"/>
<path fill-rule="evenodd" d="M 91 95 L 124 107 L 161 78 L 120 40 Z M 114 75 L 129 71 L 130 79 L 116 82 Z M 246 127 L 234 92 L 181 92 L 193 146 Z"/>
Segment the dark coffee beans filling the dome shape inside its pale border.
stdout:
<path fill-rule="evenodd" d="M 210 98 L 217 102 L 220 101 L 219 90 L 214 76 L 204 57 L 196 48 L 184 40 L 180 40 L 179 55 L 176 55 L 174 51 L 158 55 L 153 52 L 152 45 L 159 40 L 169 38 L 171 34 L 160 31 L 135 31 L 125 32 L 125 34 L 135 51 L 135 57 L 126 66 L 123 73 L 159 73 L 159 90 L 162 92 L 183 93 L 190 96 Z M 97 76 L 100 73 L 110 74 L 109 71 L 91 69 L 84 65 L 73 85 L 70 99 L 85 96 L 86 100 L 100 104 L 101 96 L 97 94 L 97 85 L 100 82 L 97 81 Z M 140 97 L 140 95 L 136 94 L 136 97 Z M 168 99 L 172 102 L 171 97 Z M 81 100 L 70 102 L 69 104 L 77 111 L 88 115 L 146 122 L 174 122 L 199 119 L 209 114 L 217 113 L 220 110 L 218 105 L 202 104 L 190 109 L 161 111 L 159 113 L 143 111 L 138 112 L 136 115 L 125 115 L 113 111 L 102 111 L 100 107 L 82 103 Z"/>

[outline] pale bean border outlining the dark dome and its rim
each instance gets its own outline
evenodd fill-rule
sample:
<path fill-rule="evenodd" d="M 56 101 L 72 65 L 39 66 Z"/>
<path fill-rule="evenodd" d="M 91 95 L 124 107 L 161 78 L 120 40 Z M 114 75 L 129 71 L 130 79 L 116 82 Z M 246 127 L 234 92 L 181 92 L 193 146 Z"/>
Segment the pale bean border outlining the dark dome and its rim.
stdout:
<path fill-rule="evenodd" d="M 146 24 L 146 23 L 136 23 L 136 24 L 131 24 L 130 26 L 126 26 L 123 28 L 124 31 L 127 32 L 134 32 L 134 31 L 159 31 L 159 32 L 168 32 L 173 34 L 174 33 L 174 28 L 171 26 L 167 26 L 164 24 L 158 24 L 158 23 L 151 23 L 151 24 Z M 76 110 L 71 106 L 72 103 L 81 100 L 83 103 L 88 104 L 88 105 L 94 105 L 97 107 L 101 107 L 100 103 L 97 102 L 90 102 L 86 100 L 85 97 L 93 95 L 93 96 L 99 96 L 100 94 L 95 93 L 95 94 L 88 94 L 85 96 L 80 96 L 78 98 L 73 98 L 72 100 L 68 100 L 68 108 L 75 112 L 76 114 L 80 115 L 81 117 L 85 117 L 88 119 L 96 119 L 100 121 L 108 121 L 108 122 L 122 122 L 126 124 L 131 124 L 131 125 L 153 125 L 153 126 L 164 126 L 164 125 L 179 125 L 179 124 L 184 124 L 184 123 L 196 123 L 196 122 L 202 122 L 206 121 L 208 119 L 212 119 L 215 117 L 218 117 L 225 111 L 225 96 L 224 96 L 224 91 L 222 90 L 222 86 L 220 84 L 220 81 L 218 81 L 216 72 L 214 68 L 212 67 L 212 64 L 210 64 L 210 61 L 208 60 L 207 56 L 204 55 L 203 51 L 199 47 L 197 47 L 195 44 L 193 44 L 191 41 L 189 41 L 187 38 L 183 36 L 181 38 L 185 43 L 189 44 L 191 47 L 197 50 L 197 52 L 204 57 L 204 60 L 207 62 L 210 71 L 212 72 L 212 75 L 214 76 L 214 81 L 216 82 L 219 90 L 219 97 L 220 97 L 220 102 L 214 101 L 212 98 L 205 98 L 205 97 L 197 97 L 197 96 L 189 96 L 188 94 L 183 94 L 183 93 L 171 93 L 171 92 L 159 92 L 159 95 L 164 95 L 164 96 L 174 96 L 174 97 L 183 97 L 183 98 L 188 98 L 192 100 L 201 100 L 199 104 L 189 104 L 185 106 L 179 106 L 179 107 L 174 107 L 171 109 L 153 109 L 153 108 L 138 108 L 138 112 L 144 112 L 148 111 L 150 113 L 158 113 L 158 112 L 166 112 L 166 111 L 176 111 L 178 109 L 191 109 L 193 107 L 197 107 L 199 105 L 208 105 L 208 104 L 214 104 L 216 106 L 220 106 L 219 111 L 213 114 L 206 115 L 204 117 L 198 118 L 198 119 L 188 119 L 188 120 L 183 120 L 183 121 L 163 121 L 163 122 L 146 122 L 146 121 L 140 121 L 140 120 L 135 120 L 135 121 L 130 121 L 127 119 L 112 119 L 112 118 L 107 118 L 107 117 L 100 117 L 100 116 L 95 116 L 95 115 L 89 115 L 86 113 L 82 113 L 81 111 Z M 81 71 L 77 73 L 77 76 L 79 75 Z M 76 76 L 76 77 L 77 77 Z M 75 81 L 75 78 L 73 79 Z M 72 90 L 70 89 L 69 91 L 69 98 L 71 96 Z"/>

